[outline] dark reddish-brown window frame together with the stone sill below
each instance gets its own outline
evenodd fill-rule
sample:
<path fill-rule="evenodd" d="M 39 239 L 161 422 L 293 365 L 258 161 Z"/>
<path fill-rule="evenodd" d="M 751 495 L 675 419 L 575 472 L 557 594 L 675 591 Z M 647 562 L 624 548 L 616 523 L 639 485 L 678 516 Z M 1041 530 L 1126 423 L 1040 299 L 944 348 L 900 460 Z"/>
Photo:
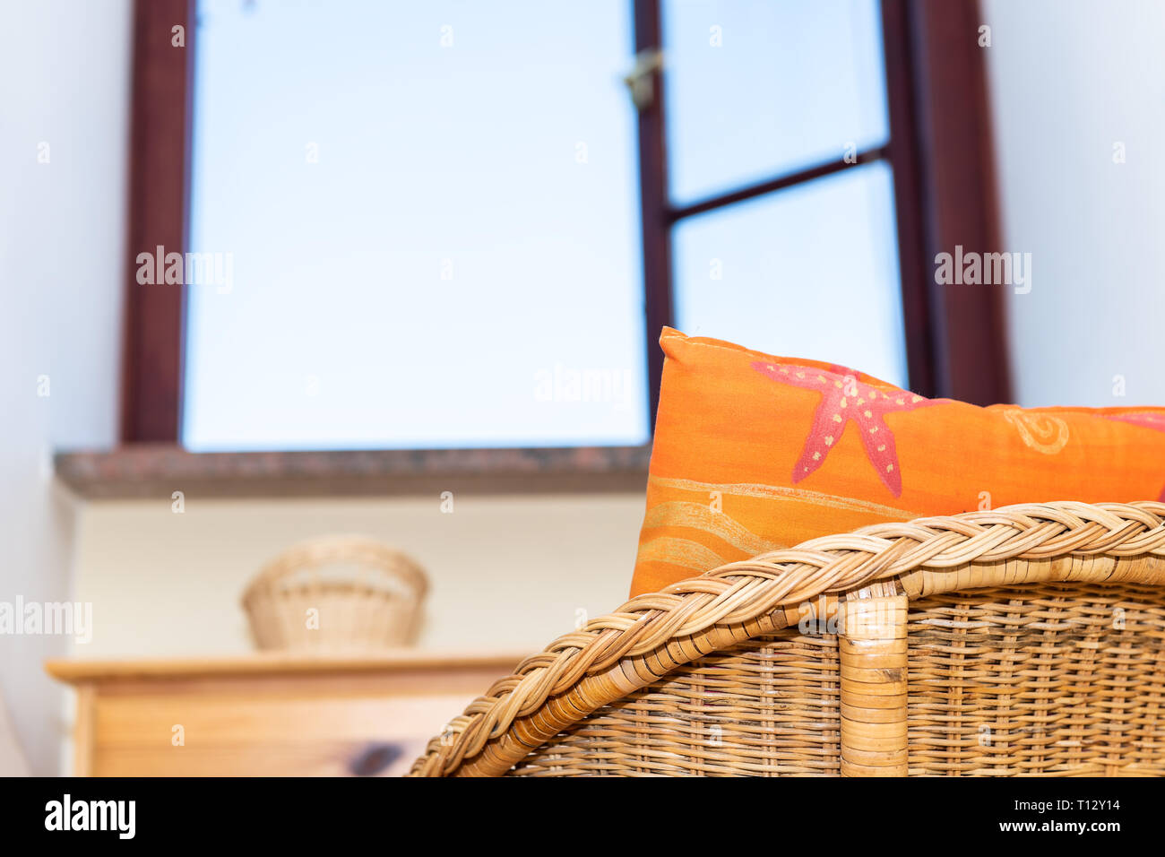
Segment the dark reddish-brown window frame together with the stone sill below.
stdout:
<path fill-rule="evenodd" d="M 636 52 L 659 49 L 662 1 L 629 1 Z M 483 469 L 496 471 L 499 478 L 503 472 L 525 478 L 549 470 L 558 477 L 592 473 L 601 483 L 612 473 L 621 479 L 627 473 L 642 475 L 647 448 L 214 456 L 179 449 L 185 293 L 181 286 L 137 283 L 134 260 L 157 246 L 179 253 L 188 247 L 195 5 L 195 0 L 135 2 L 122 451 L 106 454 L 120 455 L 120 459 L 94 454 L 61 456 L 59 469 L 66 482 L 83 493 L 108 493 L 101 485 L 111 480 L 144 484 L 176 471 L 195 478 L 203 466 L 197 462 L 207 462 L 205 466 L 213 471 L 207 471 L 210 483 L 246 480 L 248 473 L 255 472 L 277 482 L 281 472 L 294 473 L 303 462 L 315 463 L 305 478 L 327 482 L 329 472 L 345 471 L 338 463 L 345 456 L 379 462 L 372 468 L 377 483 L 390 475 L 400 478 L 404 472 L 444 473 L 451 461 L 464 463 L 463 475 Z M 854 163 L 839 159 L 683 206 L 672 205 L 668 192 L 665 79 L 661 71 L 651 72 L 655 97 L 640 110 L 638 149 L 652 415 L 663 365 L 657 338 L 661 328 L 673 323 L 675 224 L 875 160 L 888 161 L 894 171 L 911 387 L 923 395 L 981 405 L 1008 400 L 998 289 L 944 287 L 933 276 L 935 254 L 952 251 L 955 244 L 983 252 L 1001 250 L 984 62 L 976 41 L 980 23 L 976 0 L 883 0 L 889 142 L 860 153 Z M 176 26 L 184 27 L 181 48 L 172 44 Z M 146 444 L 154 444 L 153 451 Z M 546 462 L 552 464 L 548 468 Z M 344 476 L 359 475 L 345 471 Z"/>

